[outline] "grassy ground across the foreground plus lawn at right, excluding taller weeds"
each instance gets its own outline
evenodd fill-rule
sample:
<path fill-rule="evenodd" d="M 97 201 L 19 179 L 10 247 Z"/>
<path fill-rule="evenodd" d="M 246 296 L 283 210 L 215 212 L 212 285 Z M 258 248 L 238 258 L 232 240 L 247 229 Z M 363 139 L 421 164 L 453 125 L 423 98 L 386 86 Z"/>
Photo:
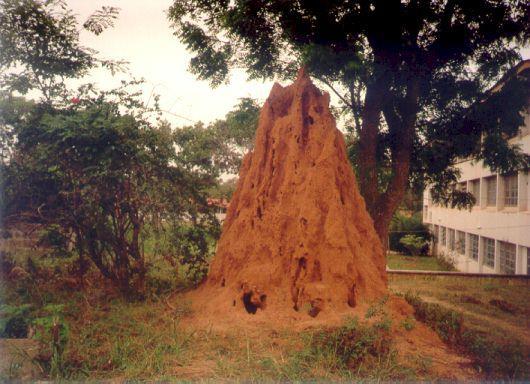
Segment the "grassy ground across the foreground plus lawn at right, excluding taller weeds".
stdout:
<path fill-rule="evenodd" d="M 463 277 L 410 276 L 392 277 L 389 285 L 397 294 L 413 292 L 427 302 L 458 310 L 463 314 L 466 327 L 487 333 L 499 344 L 519 340 L 528 357 L 530 290 L 527 286 Z M 20 367 L 32 363 L 39 366 L 36 372 L 41 374 L 38 377 L 67 379 L 296 381 L 435 378 L 429 368 L 431 362 L 422 356 L 421 351 L 403 361 L 397 358 L 390 343 L 388 348 L 376 349 L 378 352 L 371 355 L 373 345 L 381 348 L 388 340 L 384 334 L 374 333 L 374 329 L 362 322 L 354 331 L 354 340 L 368 340 L 373 345 L 368 344 L 360 352 L 351 348 L 344 351 L 337 348 L 338 340 L 348 335 L 351 324 L 333 331 L 335 333 L 319 335 L 318 330 L 302 333 L 267 330 L 263 337 L 255 338 L 243 331 L 221 334 L 212 329 L 182 327 L 190 303 L 165 295 L 153 295 L 145 302 L 127 303 L 111 291 L 96 287 L 85 293 L 57 290 L 57 286 L 48 284 L 33 288 L 18 284 L 7 289 L 10 293 L 4 290 L 4 299 L 12 304 L 22 303 L 23 298 L 33 298 L 35 310 L 32 316 L 39 319 L 53 318 L 50 314 L 59 304 L 60 310 L 55 316 L 61 319 L 59 323 L 64 321 L 68 331 L 64 348 L 58 348 L 57 357 L 60 359 L 57 359 L 54 370 L 46 353 L 43 356 L 41 352 L 29 361 L 19 351 L 13 355 L 9 369 L 2 373 L 4 378 L 20 377 Z M 35 294 L 33 289 L 40 293 Z M 413 324 L 411 321 L 411 327 Z M 378 327 L 377 330 L 384 329 L 385 325 L 381 323 Z M 53 341 L 43 340 L 53 346 Z M 352 354 L 359 353 L 361 363 L 351 363 Z M 478 372 L 477 375 L 481 377 Z"/>

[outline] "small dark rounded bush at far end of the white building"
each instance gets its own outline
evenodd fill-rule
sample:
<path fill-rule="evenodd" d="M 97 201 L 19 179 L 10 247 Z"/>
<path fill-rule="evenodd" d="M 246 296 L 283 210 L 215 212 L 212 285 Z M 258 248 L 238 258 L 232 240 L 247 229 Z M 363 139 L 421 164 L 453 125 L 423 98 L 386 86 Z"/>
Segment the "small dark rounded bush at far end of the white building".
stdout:
<path fill-rule="evenodd" d="M 414 236 L 424 242 L 417 254 L 425 255 L 428 253 L 428 242 L 431 239 L 431 234 L 427 226 L 423 224 L 420 213 L 416 213 L 410 217 L 400 213 L 394 215 L 392 222 L 390 223 L 390 231 L 388 234 L 389 249 L 400 253 L 410 253 L 407 246 L 401 243 L 401 239 L 407 236 Z"/>

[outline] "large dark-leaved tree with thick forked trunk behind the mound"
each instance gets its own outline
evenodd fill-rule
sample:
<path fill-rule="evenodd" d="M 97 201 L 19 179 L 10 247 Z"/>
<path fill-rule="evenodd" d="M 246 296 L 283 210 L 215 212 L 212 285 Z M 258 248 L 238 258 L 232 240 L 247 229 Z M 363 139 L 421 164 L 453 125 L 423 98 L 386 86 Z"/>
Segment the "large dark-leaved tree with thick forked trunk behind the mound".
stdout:
<path fill-rule="evenodd" d="M 195 54 L 191 71 L 213 85 L 234 67 L 286 78 L 305 66 L 337 94 L 352 119 L 361 193 L 386 243 L 407 186 L 430 183 L 438 201 L 465 205 L 469 194 L 448 188 L 457 158 L 499 171 L 525 165 L 505 138 L 523 123 L 528 83 L 486 90 L 520 60 L 529 13 L 516 0 L 178 0 L 169 18 Z"/>

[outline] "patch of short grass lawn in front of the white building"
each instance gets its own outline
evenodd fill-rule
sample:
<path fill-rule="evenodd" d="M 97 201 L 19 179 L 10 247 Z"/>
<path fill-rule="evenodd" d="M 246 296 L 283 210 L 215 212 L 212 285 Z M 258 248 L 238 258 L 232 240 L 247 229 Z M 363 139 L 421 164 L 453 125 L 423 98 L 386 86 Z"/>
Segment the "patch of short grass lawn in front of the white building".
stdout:
<path fill-rule="evenodd" d="M 389 286 L 396 294 L 413 294 L 462 317 L 473 334 L 466 348 L 480 351 L 492 369 L 516 371 L 530 378 L 530 282 L 456 276 L 397 276 Z M 487 343 L 485 343 L 487 341 Z M 495 348 L 499 351 L 494 351 Z M 496 355 L 495 355 L 496 354 Z"/>

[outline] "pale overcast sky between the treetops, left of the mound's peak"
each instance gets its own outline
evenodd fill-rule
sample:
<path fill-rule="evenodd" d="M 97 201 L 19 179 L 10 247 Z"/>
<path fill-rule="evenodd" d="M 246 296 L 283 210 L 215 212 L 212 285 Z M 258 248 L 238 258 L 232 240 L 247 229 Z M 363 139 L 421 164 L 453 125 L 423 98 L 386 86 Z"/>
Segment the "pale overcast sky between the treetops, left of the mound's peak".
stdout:
<path fill-rule="evenodd" d="M 166 15 L 172 0 L 68 0 L 68 4 L 80 22 L 103 5 L 120 8 L 114 28 L 99 36 L 83 31 L 81 42 L 103 58 L 130 62 L 131 74 L 146 80 L 145 100 L 152 91 L 159 94 L 163 110 L 182 116 L 166 114 L 176 125 L 190 123 L 184 118 L 204 122 L 222 118 L 239 98 L 251 96 L 264 101 L 270 91 L 272 82 L 247 81 L 241 70 L 233 71 L 229 84 L 215 89 L 188 72 L 191 54 L 173 36 Z M 523 56 L 530 58 L 530 50 L 525 49 Z M 103 71 L 94 72 L 90 80 L 102 88 L 119 81 Z"/>

